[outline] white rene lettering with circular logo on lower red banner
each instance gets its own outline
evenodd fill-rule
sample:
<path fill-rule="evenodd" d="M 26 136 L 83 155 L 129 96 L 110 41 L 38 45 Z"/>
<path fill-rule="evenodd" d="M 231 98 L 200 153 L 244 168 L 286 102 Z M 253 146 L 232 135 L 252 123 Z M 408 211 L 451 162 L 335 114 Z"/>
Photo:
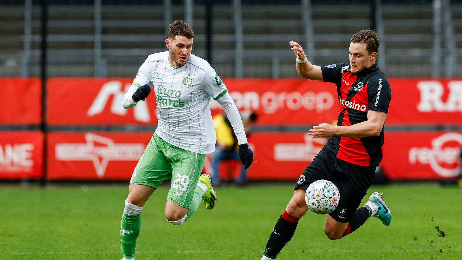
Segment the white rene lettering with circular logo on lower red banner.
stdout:
<path fill-rule="evenodd" d="M 456 177 L 461 172 L 461 145 L 462 134 L 445 133 L 432 140 L 432 147 L 409 149 L 409 163 L 428 164 L 440 176 Z"/>

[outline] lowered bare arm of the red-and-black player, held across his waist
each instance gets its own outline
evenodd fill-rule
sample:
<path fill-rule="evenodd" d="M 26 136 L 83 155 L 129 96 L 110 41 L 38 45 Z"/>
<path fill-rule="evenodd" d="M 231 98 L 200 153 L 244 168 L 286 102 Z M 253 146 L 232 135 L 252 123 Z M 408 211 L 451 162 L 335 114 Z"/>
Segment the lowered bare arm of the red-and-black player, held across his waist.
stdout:
<path fill-rule="evenodd" d="M 346 137 L 368 137 L 379 136 L 387 114 L 382 111 L 369 110 L 367 111 L 367 121 L 353 124 L 349 126 L 334 126 L 327 123 L 315 125 L 310 129 L 310 136 L 313 137 L 330 137 L 330 136 L 346 136 Z"/>

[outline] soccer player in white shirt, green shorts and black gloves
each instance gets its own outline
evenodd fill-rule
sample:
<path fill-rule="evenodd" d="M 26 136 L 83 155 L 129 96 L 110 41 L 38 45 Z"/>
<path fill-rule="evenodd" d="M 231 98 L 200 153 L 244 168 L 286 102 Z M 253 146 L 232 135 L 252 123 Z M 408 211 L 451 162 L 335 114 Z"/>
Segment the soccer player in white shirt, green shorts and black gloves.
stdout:
<path fill-rule="evenodd" d="M 202 174 L 205 155 L 215 150 L 216 132 L 210 98 L 225 110 L 239 143 L 246 168 L 253 161 L 239 111 L 228 89 L 208 62 L 190 54 L 194 33 L 188 24 L 170 24 L 165 44 L 168 51 L 148 56 L 141 65 L 123 107 L 134 107 L 151 92 L 156 95 L 158 127 L 138 161 L 130 180 L 122 213 L 123 260 L 134 260 L 141 228 L 141 210 L 160 183 L 171 178 L 165 218 L 180 225 L 197 210 L 201 200 L 213 209 L 216 193 L 212 177 Z"/>

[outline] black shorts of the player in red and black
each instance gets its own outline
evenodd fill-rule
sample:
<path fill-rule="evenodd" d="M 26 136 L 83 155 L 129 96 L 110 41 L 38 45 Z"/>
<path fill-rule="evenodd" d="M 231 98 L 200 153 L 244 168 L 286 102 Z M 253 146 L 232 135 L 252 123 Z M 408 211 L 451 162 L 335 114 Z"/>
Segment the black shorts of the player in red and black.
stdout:
<path fill-rule="evenodd" d="M 332 181 L 339 189 L 340 202 L 329 215 L 338 222 L 346 223 L 371 187 L 375 169 L 340 160 L 332 149 L 324 146 L 303 171 L 294 189 L 306 190 L 316 180 Z"/>

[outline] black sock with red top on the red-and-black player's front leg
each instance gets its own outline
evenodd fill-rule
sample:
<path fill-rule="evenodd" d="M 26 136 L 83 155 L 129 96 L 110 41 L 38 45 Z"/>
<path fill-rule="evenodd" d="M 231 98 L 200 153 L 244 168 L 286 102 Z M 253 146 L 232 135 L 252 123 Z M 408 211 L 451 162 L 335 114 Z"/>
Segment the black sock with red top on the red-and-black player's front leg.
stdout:
<path fill-rule="evenodd" d="M 300 217 L 294 217 L 284 210 L 284 213 L 282 213 L 282 216 L 279 218 L 278 222 L 276 222 L 269 236 L 263 255 L 276 259 L 276 256 L 278 256 L 282 248 L 292 239 L 299 220 Z"/>

